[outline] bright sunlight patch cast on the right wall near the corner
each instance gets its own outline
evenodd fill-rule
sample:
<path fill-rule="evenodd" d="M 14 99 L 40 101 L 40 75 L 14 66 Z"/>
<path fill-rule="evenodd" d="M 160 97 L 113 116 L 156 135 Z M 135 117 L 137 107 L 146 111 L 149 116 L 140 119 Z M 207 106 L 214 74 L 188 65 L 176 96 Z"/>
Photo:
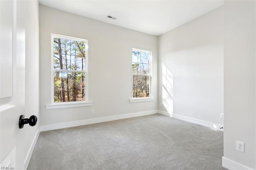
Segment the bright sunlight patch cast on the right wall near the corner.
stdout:
<path fill-rule="evenodd" d="M 162 63 L 162 104 L 166 111 L 173 113 L 173 75 Z"/>

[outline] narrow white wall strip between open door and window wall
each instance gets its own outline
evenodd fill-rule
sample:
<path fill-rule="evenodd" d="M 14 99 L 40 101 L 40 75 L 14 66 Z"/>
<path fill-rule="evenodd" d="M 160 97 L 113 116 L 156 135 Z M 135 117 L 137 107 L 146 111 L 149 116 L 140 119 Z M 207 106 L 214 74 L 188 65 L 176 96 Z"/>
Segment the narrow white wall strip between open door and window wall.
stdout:
<path fill-rule="evenodd" d="M 25 118 L 39 116 L 39 4 L 38 1 L 26 1 L 26 69 L 25 69 Z M 30 127 L 25 125 L 24 151 L 25 167 L 28 165 L 40 123 Z M 31 148 L 31 149 L 30 149 Z"/>

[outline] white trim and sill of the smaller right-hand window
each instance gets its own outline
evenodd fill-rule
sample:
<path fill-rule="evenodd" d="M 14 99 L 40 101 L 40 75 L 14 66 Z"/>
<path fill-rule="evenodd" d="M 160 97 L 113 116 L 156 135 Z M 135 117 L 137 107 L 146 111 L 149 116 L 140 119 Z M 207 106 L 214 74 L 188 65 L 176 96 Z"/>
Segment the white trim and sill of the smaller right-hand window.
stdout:
<path fill-rule="evenodd" d="M 140 51 L 140 52 L 145 52 L 145 53 L 150 53 L 150 57 L 149 57 L 149 74 L 136 74 L 136 73 L 132 73 L 133 75 L 146 75 L 149 76 L 149 97 L 132 97 L 132 99 L 130 99 L 130 103 L 134 103 L 134 102 L 141 102 L 141 101 L 154 101 L 154 97 L 152 97 L 152 51 L 147 51 L 144 49 L 138 49 L 138 48 L 132 48 L 132 51 Z"/>

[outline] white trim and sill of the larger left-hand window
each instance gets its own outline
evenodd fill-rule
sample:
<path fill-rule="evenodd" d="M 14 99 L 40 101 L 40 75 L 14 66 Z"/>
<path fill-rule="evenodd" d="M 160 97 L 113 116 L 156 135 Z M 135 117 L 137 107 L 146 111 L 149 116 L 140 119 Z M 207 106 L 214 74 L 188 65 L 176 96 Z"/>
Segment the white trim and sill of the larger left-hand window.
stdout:
<path fill-rule="evenodd" d="M 83 71 L 85 72 L 85 80 L 86 80 L 86 87 L 85 87 L 85 101 L 72 101 L 72 102 L 61 102 L 61 103 L 54 103 L 54 71 L 56 69 L 53 68 L 53 40 L 54 38 L 64 38 L 67 40 L 75 40 L 75 41 L 82 41 L 86 42 L 86 62 L 85 62 L 85 67 L 86 70 Z M 68 70 L 70 71 L 70 70 Z M 73 72 L 78 72 L 76 70 L 72 70 Z M 81 71 L 79 71 L 81 72 Z M 50 105 L 46 105 L 46 109 L 60 109 L 60 108 L 68 108 L 68 107 L 83 107 L 83 106 L 92 106 L 92 102 L 88 101 L 88 40 L 80 39 L 80 38 L 74 38 L 74 37 L 69 37 L 69 36 L 62 36 L 58 34 L 51 34 L 51 100 L 52 103 Z"/>

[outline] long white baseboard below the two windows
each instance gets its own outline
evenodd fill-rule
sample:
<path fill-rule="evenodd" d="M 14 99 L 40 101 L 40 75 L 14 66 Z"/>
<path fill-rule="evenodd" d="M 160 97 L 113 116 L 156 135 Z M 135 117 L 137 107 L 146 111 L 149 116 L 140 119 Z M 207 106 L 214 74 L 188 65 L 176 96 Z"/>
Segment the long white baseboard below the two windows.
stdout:
<path fill-rule="evenodd" d="M 126 118 L 131 118 L 131 117 L 152 115 L 152 114 L 156 114 L 156 113 L 158 113 L 158 110 L 138 112 L 138 113 L 128 113 L 128 114 L 124 114 L 124 115 L 100 117 L 100 118 L 95 118 L 95 119 L 86 119 L 86 120 L 82 120 L 82 121 L 58 123 L 58 124 L 54 124 L 54 125 L 44 125 L 44 126 L 40 127 L 40 130 L 41 130 L 41 132 L 43 132 L 43 131 L 47 131 L 47 130 L 68 128 L 68 127 L 76 127 L 76 126 L 82 126 L 82 125 L 90 125 L 90 124 L 94 124 L 94 123 L 115 121 L 115 120 L 118 120 L 118 119 L 126 119 Z"/>

